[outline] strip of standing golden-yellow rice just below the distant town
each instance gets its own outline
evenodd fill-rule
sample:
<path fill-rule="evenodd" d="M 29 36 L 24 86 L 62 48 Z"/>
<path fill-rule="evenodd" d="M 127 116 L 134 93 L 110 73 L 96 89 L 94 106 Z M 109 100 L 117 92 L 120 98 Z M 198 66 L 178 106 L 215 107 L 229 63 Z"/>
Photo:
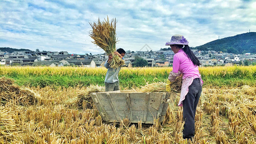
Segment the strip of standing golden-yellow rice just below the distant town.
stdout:
<path fill-rule="evenodd" d="M 127 68 L 123 67 L 120 71 L 120 76 L 125 77 L 129 75 L 136 76 L 158 76 L 166 75 L 172 70 L 172 67 L 143 67 L 143 68 Z M 101 68 L 85 68 L 85 67 L 9 67 L 1 66 L 0 75 L 49 75 L 49 76 L 105 76 L 107 69 Z M 234 76 L 256 76 L 256 66 L 230 66 L 230 67 L 201 67 L 199 72 L 202 76 L 216 76 L 216 77 L 234 77 Z"/>

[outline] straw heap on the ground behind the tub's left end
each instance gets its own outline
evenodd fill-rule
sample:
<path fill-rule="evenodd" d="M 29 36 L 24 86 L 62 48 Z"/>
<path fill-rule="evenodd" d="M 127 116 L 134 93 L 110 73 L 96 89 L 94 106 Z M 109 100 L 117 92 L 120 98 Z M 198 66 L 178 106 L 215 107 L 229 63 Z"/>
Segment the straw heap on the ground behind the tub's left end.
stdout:
<path fill-rule="evenodd" d="M 77 106 L 83 107 L 84 109 L 89 108 L 92 109 L 94 102 L 92 100 L 92 97 L 90 96 L 91 93 L 98 93 L 98 92 L 104 92 L 105 88 L 103 86 L 98 85 L 90 85 L 86 88 L 84 92 L 80 92 L 80 94 L 77 96 Z"/>

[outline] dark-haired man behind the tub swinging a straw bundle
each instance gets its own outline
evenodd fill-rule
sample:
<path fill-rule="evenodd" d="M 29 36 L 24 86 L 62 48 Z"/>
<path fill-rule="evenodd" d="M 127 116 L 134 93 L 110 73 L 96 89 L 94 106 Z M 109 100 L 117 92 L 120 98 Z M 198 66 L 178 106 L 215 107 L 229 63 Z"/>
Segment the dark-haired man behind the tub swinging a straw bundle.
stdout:
<path fill-rule="evenodd" d="M 115 52 L 115 55 L 118 55 L 121 59 L 125 55 L 125 51 L 122 48 L 118 48 Z M 110 60 L 112 60 L 112 55 L 109 55 L 109 59 L 106 60 L 104 66 L 108 69 L 106 77 L 105 77 L 105 91 L 117 91 L 119 89 L 119 79 L 118 73 L 121 67 L 118 68 L 110 68 Z"/>

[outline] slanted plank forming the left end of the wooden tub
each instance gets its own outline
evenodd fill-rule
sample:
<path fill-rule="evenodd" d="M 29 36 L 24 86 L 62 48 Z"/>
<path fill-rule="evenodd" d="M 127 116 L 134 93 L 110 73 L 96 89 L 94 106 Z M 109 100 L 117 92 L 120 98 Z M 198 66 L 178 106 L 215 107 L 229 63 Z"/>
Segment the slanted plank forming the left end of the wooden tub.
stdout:
<path fill-rule="evenodd" d="M 97 94 L 96 93 L 91 93 L 91 97 L 92 97 L 92 99 L 94 101 L 94 104 L 96 105 L 96 107 L 97 107 L 97 109 L 98 109 L 102 119 L 105 120 L 105 121 L 109 121 L 110 118 L 109 118 L 105 108 L 102 107 L 102 105 L 101 105 L 101 103 L 100 103 L 100 101 L 98 99 Z"/>

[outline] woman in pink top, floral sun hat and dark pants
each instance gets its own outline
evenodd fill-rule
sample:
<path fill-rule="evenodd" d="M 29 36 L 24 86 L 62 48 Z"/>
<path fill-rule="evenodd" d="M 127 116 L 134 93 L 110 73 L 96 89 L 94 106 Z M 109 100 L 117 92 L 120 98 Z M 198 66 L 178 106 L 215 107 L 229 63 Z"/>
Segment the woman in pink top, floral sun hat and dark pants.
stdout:
<path fill-rule="evenodd" d="M 188 47 L 188 41 L 184 36 L 171 36 L 171 41 L 165 45 L 170 46 L 175 53 L 172 71 L 166 82 L 166 90 L 171 91 L 171 82 L 182 73 L 183 84 L 178 106 L 183 107 L 183 120 L 185 120 L 183 139 L 192 140 L 192 137 L 195 136 L 195 111 L 203 84 L 198 71 L 198 66 L 201 63 Z"/>

